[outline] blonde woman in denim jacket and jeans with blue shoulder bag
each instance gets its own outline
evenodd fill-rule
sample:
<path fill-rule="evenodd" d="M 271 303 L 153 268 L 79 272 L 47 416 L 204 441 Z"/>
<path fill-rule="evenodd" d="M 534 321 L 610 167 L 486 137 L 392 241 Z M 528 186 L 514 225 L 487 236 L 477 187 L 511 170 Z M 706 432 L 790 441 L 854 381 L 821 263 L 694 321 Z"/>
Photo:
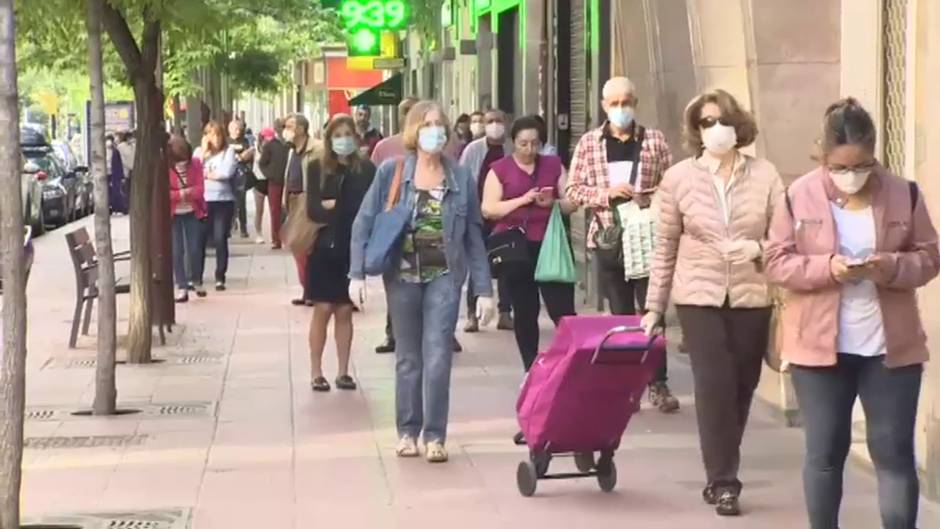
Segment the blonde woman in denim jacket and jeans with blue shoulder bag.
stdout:
<path fill-rule="evenodd" d="M 411 219 L 403 233 L 387 235 L 394 244 L 383 274 L 396 340 L 396 454 L 418 456 L 423 437 L 432 463 L 448 459 L 452 339 L 468 274 L 481 295 L 477 310 L 484 324 L 495 309 L 476 185 L 442 155 L 449 134 L 437 103 L 419 102 L 408 113 L 403 142 L 409 154 L 379 167 L 353 225 L 349 268 L 349 297 L 362 305 L 365 250 L 376 216 L 390 207 Z"/>

